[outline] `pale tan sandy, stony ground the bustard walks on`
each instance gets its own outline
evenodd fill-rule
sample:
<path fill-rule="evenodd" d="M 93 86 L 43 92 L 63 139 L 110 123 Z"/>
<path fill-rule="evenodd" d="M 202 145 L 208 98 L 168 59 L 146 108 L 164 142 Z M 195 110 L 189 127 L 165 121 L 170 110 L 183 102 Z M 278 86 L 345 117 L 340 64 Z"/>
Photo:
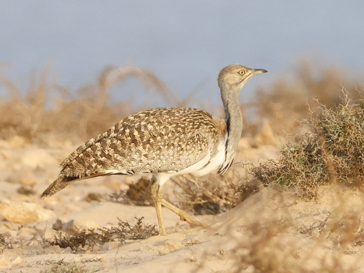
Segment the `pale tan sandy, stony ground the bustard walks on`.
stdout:
<path fill-rule="evenodd" d="M 266 137 L 243 139 L 237 161 L 274 157 L 277 148 L 264 145 Z M 21 241 L 20 247 L 3 249 L 1 272 L 40 272 L 60 260 L 79 262 L 90 272 L 364 272 L 364 194 L 335 185 L 321 187 L 311 200 L 262 188 L 225 213 L 196 216 L 207 228 L 190 228 L 163 208 L 167 236 L 110 242 L 82 253 L 39 245 L 37 238 L 56 234 L 52 225 L 58 219 L 86 229 L 116 225 L 118 217 L 157 224 L 153 206 L 84 200 L 88 193 L 125 188 L 132 177 L 79 181 L 41 200 L 58 164 L 76 148 L 57 143 L 50 149 L 19 137 L 0 141 L 0 233 Z M 17 192 L 21 186 L 35 194 Z M 173 186 L 169 182 L 166 192 Z"/>

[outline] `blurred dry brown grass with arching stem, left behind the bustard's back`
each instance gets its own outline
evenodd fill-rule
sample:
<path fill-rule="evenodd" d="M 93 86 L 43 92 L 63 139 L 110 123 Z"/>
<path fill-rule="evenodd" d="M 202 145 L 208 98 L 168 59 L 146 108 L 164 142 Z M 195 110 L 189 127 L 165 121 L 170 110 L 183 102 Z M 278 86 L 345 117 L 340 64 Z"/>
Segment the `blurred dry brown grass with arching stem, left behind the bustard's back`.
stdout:
<path fill-rule="evenodd" d="M 8 95 L 0 101 L 0 139 L 18 135 L 43 143 L 50 133 L 73 141 L 98 135 L 136 111 L 131 99 L 114 103 L 109 96 L 113 85 L 131 77 L 140 79 L 151 93 L 178 103 L 163 81 L 146 69 L 107 66 L 96 84 L 80 88 L 76 95 L 50 79 L 49 72 L 44 68 L 38 81 L 32 75 L 26 92 L 1 73 Z"/>

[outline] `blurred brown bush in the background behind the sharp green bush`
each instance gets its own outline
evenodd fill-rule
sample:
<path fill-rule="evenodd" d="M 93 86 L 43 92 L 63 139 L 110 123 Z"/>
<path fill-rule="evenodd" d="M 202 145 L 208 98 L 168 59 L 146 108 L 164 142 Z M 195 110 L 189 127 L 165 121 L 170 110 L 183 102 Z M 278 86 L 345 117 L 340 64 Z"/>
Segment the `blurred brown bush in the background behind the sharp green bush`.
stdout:
<path fill-rule="evenodd" d="M 316 60 L 301 60 L 292 69 L 293 77 L 287 75 L 258 88 L 254 96 L 253 110 L 259 119 L 269 121 L 273 131 L 284 136 L 285 132 L 298 132 L 297 120 L 309 115 L 317 107 L 314 99 L 327 108 L 341 103 L 340 90 L 344 86 L 352 99 L 358 99 L 356 89 L 364 89 L 362 80 L 353 80 L 349 73 L 337 65 L 322 65 Z"/>

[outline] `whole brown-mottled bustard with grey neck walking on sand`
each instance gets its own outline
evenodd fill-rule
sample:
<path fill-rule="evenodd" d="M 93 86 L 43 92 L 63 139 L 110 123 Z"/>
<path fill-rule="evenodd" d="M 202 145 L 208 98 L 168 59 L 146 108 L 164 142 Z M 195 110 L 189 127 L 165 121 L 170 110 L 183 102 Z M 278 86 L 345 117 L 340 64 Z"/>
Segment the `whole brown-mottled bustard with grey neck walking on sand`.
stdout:
<path fill-rule="evenodd" d="M 162 198 L 165 182 L 176 175 L 223 174 L 232 164 L 242 131 L 238 95 L 254 75 L 267 72 L 241 64 L 223 68 L 217 78 L 225 122 L 194 108 L 166 107 L 136 113 L 79 146 L 61 163 L 58 178 L 41 197 L 51 196 L 71 182 L 109 174 L 152 173 L 159 234 L 166 235 L 162 205 L 190 225 L 201 225 Z"/>

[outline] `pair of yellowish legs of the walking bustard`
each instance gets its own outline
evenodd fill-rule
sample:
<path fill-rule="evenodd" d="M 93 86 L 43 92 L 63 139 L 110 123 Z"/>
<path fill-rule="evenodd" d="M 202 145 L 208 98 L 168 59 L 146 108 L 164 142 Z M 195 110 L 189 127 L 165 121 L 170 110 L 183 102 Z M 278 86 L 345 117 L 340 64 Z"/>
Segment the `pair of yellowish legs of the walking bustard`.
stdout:
<path fill-rule="evenodd" d="M 158 224 L 159 224 L 159 234 L 167 235 L 166 228 L 162 216 L 162 205 L 166 208 L 172 210 L 176 213 L 182 221 L 186 221 L 191 226 L 203 226 L 199 221 L 192 218 L 188 213 L 184 212 L 182 209 L 177 208 L 170 202 L 162 198 L 162 186 L 160 186 L 157 181 L 152 179 L 150 185 L 150 195 L 154 202 L 154 207 L 157 212 Z"/>

